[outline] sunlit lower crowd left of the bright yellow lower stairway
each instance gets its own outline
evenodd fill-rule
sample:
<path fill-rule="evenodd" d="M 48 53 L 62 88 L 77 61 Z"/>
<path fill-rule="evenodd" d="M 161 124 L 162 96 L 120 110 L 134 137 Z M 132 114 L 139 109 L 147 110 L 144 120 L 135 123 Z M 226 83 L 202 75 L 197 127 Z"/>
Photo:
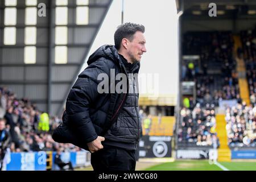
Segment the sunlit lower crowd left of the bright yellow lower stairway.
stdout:
<path fill-rule="evenodd" d="M 219 146 L 213 105 L 207 105 L 202 109 L 200 104 L 197 104 L 193 110 L 183 107 L 180 116 L 179 143 L 192 143 L 196 146 L 213 146 L 214 148 Z"/>

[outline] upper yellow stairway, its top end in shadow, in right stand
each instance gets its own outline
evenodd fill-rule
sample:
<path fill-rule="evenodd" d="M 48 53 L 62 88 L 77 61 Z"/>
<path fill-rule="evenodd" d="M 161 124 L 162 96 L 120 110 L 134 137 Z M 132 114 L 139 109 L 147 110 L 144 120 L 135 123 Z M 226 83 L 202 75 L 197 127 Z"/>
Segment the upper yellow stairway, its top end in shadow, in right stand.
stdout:
<path fill-rule="evenodd" d="M 240 36 L 234 35 L 234 55 L 236 56 L 237 61 L 237 72 L 238 72 L 238 84 L 240 88 L 240 96 L 243 101 L 246 102 L 246 105 L 250 104 L 249 99 L 249 86 L 246 79 L 246 68 L 245 61 L 243 59 L 238 58 L 237 56 L 237 48 L 242 47 Z"/>

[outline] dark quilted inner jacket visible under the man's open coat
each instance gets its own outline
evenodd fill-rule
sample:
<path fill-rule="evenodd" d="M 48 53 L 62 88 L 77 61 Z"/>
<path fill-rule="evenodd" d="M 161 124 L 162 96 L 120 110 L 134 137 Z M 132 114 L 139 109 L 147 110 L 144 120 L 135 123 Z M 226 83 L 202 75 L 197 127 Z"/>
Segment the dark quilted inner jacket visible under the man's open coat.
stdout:
<path fill-rule="evenodd" d="M 134 76 L 136 76 L 136 74 L 134 75 L 133 73 L 138 72 L 139 64 L 129 64 L 122 55 L 119 56 L 121 57 L 122 64 L 125 65 L 126 72 L 129 74 L 130 92 L 127 94 L 127 99 L 118 115 L 117 121 L 105 135 L 105 144 L 135 150 L 136 143 L 139 139 L 141 125 L 139 123 L 138 110 L 138 77 L 135 79 Z"/>

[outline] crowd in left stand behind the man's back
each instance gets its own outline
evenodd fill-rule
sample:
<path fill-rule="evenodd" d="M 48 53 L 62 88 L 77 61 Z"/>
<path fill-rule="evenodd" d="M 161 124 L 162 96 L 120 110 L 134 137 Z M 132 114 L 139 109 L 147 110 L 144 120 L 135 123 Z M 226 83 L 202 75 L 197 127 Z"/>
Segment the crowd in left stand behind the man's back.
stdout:
<path fill-rule="evenodd" d="M 7 88 L 0 88 L 0 118 L 4 118 L 7 130 L 11 135 L 11 152 L 21 151 L 79 151 L 73 144 L 56 143 L 51 132 L 61 120 L 57 117 L 49 118 L 49 129 L 39 129 L 40 116 L 44 111 L 36 108 L 27 98 L 18 100 L 15 93 Z"/>

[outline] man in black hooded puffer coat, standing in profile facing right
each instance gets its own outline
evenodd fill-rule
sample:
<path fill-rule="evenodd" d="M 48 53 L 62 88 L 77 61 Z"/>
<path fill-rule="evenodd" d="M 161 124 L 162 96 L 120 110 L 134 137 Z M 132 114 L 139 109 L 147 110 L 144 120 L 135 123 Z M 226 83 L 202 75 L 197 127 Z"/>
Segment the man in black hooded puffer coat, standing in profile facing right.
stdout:
<path fill-rule="evenodd" d="M 69 92 L 65 111 L 68 125 L 79 142 L 88 146 L 95 171 L 135 170 L 141 130 L 139 61 L 146 52 L 143 33 L 140 24 L 119 26 L 114 34 L 115 46 L 98 48 Z M 107 85 L 102 86 L 102 78 Z M 120 86 L 120 82 L 125 84 Z"/>

